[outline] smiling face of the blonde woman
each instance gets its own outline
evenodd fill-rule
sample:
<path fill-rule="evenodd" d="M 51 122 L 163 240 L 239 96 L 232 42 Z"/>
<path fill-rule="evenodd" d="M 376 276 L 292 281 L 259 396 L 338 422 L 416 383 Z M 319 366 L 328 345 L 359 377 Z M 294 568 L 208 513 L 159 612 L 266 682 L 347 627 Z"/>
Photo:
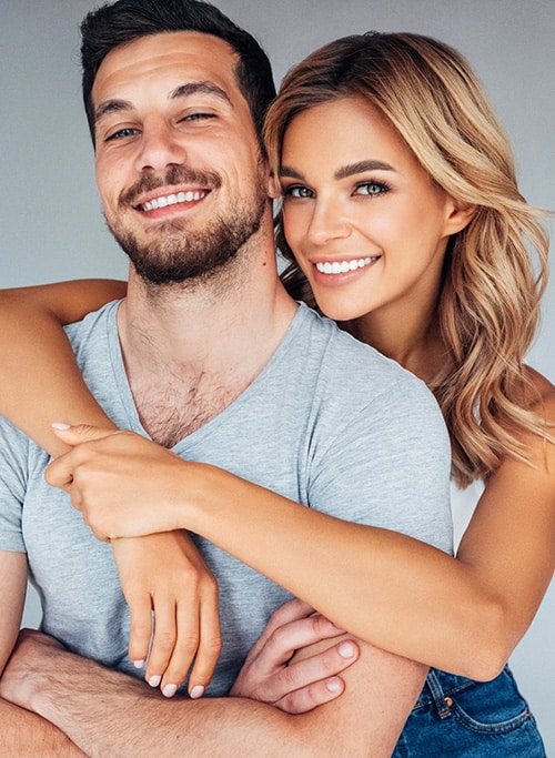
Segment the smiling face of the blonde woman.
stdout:
<path fill-rule="evenodd" d="M 377 109 L 341 98 L 295 117 L 281 182 L 286 240 L 326 315 L 430 313 L 457 212 Z"/>

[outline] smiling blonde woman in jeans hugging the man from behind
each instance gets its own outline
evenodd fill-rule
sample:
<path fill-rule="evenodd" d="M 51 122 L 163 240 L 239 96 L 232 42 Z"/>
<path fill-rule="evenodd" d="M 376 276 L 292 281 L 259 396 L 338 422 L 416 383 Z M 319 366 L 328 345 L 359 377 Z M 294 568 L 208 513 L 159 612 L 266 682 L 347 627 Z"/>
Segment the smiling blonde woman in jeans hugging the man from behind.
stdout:
<path fill-rule="evenodd" d="M 517 191 L 507 140 L 461 55 L 416 34 L 352 37 L 313 53 L 285 78 L 266 140 L 284 189 L 284 251 L 299 262 L 287 286 L 312 289 L 325 314 L 430 384 L 451 433 L 455 482 L 483 479 L 485 488 L 457 559 L 401 535 L 322 519 L 213 469 L 210 513 L 184 502 L 180 524 L 349 631 L 461 675 L 431 673 L 398 755 L 545 755 L 511 674 L 500 674 L 548 586 L 555 537 L 555 392 L 523 365 L 545 285 L 547 240 L 538 212 Z M 44 303 L 61 311 L 58 294 L 41 290 L 41 299 L 38 312 Z M 11 309 L 12 322 L 29 307 Z M 82 315 L 74 301 L 64 309 L 62 321 Z M 53 332 L 51 315 L 38 319 L 33 331 L 43 324 Z M 9 333 L 10 342 L 17 334 L 26 345 L 24 326 Z M 36 342 L 27 342 L 34 352 Z M 41 350 L 43 383 L 53 361 L 46 343 Z M 10 380 L 12 396 L 21 396 L 20 374 L 17 387 Z M 63 393 L 47 412 L 43 397 L 32 412 L 8 407 L 8 382 L 2 412 L 37 438 L 46 437 L 41 418 L 75 418 L 74 407 L 62 413 Z M 84 415 L 88 401 L 72 392 L 81 417 L 98 418 Z M 59 432 L 64 442 L 72 434 Z M 130 434 L 115 444 L 137 448 L 138 461 L 150 445 Z M 188 464 L 159 455 L 173 484 L 182 475 L 190 484 Z M 175 509 L 164 511 L 161 499 L 162 530 L 175 522 Z M 119 533 L 98 533 L 132 536 L 140 522 L 135 511 L 128 532 L 119 524 Z M 302 555 L 287 544 L 293 529 L 306 535 Z M 315 529 L 319 539 L 311 542 Z M 327 556 L 325 586 L 311 570 L 315 543 Z M 496 678 L 480 684 L 464 676 Z"/>

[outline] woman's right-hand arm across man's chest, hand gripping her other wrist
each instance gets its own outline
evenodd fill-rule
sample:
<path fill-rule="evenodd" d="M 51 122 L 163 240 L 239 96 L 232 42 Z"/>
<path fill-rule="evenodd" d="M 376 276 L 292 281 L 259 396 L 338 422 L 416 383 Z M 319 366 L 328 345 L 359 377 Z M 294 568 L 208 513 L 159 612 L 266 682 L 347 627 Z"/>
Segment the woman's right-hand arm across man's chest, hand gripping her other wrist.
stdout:
<path fill-rule="evenodd" d="M 544 408 L 553 423 L 552 385 Z M 534 435 L 525 441 L 534 465 L 503 463 L 455 559 L 404 535 L 300 507 L 220 468 L 183 462 L 132 433 L 60 434 L 79 449 L 54 464 L 49 481 L 63 487 L 79 469 L 77 501 L 100 538 L 190 528 L 351 634 L 475 679 L 498 674 L 553 576 L 555 445 Z"/>

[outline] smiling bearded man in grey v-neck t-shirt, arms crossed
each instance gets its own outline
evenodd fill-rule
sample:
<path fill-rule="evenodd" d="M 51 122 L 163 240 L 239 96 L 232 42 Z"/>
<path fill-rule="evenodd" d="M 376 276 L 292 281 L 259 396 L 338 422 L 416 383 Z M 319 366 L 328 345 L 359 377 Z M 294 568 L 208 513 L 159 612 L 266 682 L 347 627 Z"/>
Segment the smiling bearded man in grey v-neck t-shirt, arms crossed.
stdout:
<path fill-rule="evenodd" d="M 450 451 L 427 391 L 300 309 L 278 279 L 278 192 L 259 138 L 270 88 L 252 44 L 194 1 L 120 0 L 85 21 L 97 180 L 131 266 L 122 305 L 69 330 L 81 370 L 120 426 L 184 458 L 349 521 L 436 535 L 448 548 Z M 0 600 L 14 610 L 0 623 L 0 665 L 19 623 L 24 550 L 44 629 L 74 651 L 22 638 L 0 683 L 14 704 L 1 704 L 4 741 L 19 749 L 27 726 L 41 755 L 47 746 L 91 756 L 391 754 L 425 668 L 362 643 L 345 694 L 310 712 L 224 697 L 290 595 L 202 539 L 222 598 L 211 697 L 165 701 L 121 673 L 135 674 L 122 653 L 129 619 L 109 547 L 43 483 L 47 456 L 8 425 L 1 433 Z M 391 455 L 394 518 L 383 507 Z"/>

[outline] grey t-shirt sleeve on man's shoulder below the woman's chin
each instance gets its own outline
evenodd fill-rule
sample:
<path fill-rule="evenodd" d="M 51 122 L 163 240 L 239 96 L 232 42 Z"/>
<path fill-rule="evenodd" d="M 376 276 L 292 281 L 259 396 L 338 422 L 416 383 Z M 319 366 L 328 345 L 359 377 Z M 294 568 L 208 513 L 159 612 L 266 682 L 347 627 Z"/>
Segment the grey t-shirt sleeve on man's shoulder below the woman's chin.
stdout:
<path fill-rule="evenodd" d="M 452 553 L 451 449 L 427 387 L 407 374 L 334 423 L 314 442 L 310 506 Z"/>

